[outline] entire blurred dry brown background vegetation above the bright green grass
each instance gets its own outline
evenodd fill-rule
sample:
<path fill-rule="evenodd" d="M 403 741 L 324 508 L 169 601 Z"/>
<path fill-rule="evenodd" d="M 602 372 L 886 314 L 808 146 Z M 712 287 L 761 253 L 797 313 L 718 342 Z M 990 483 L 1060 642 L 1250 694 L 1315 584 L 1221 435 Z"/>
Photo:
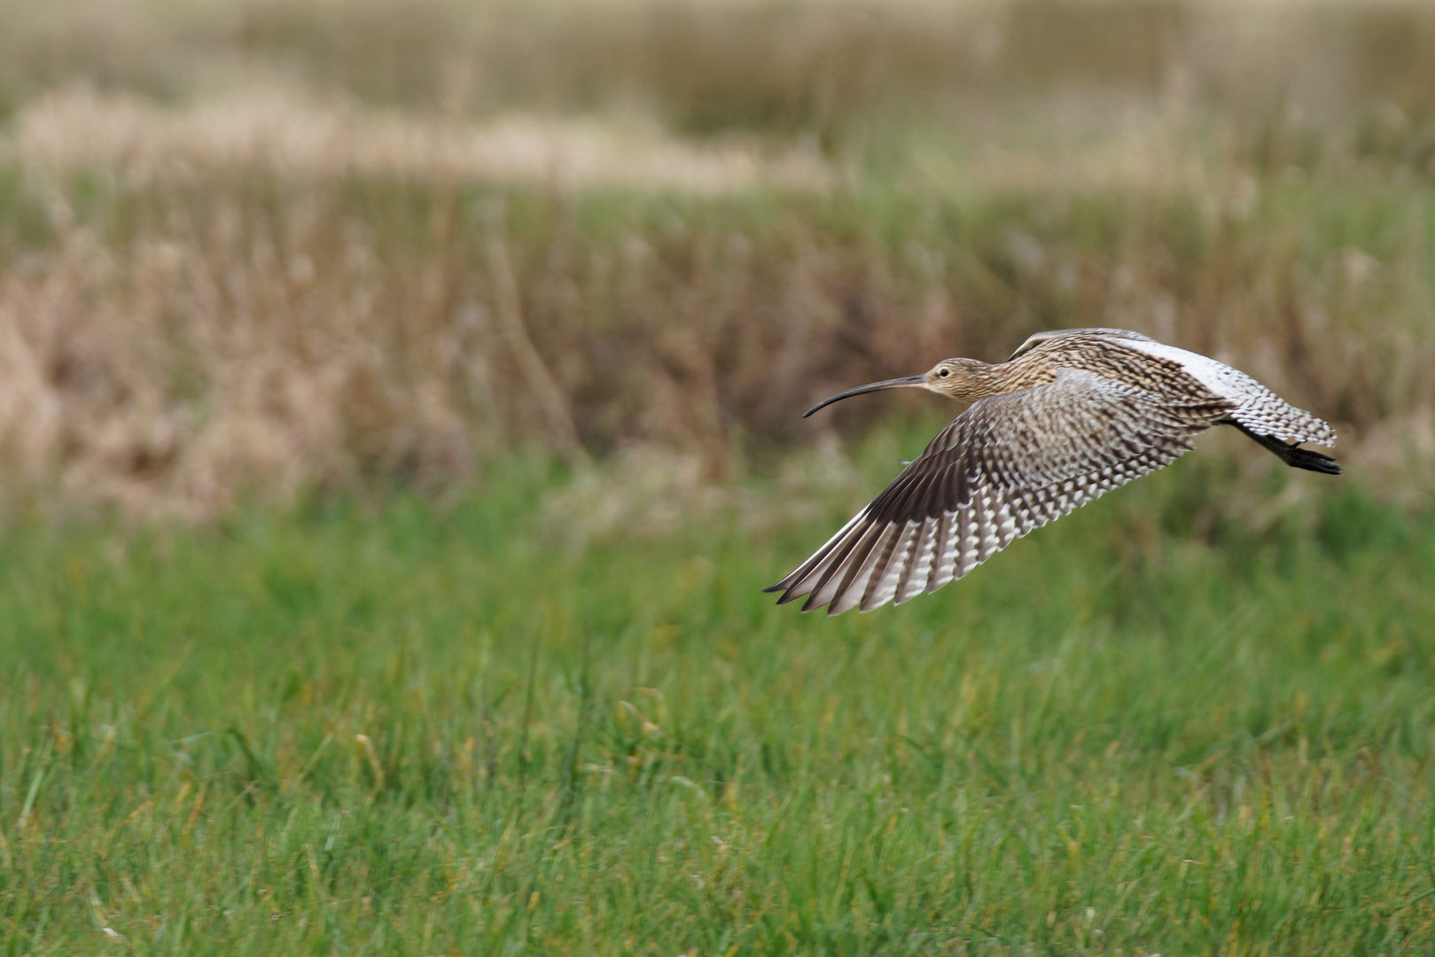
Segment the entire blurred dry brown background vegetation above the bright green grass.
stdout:
<path fill-rule="evenodd" d="M 693 489 L 821 435 L 795 418 L 817 396 L 1086 324 L 1234 362 L 1335 420 L 1368 484 L 1435 491 L 1425 67 L 1379 40 L 1418 34 L 1418 10 L 462 20 L 432 3 L 402 30 L 382 6 L 155 10 L 129 9 L 93 69 L 66 60 L 89 20 L 33 14 L 53 69 L 33 52 L 0 69 L 14 501 L 204 521 L 310 489 L 442 494 L 540 445 L 618 452 L 640 478 L 604 508 L 667 502 L 662 525 L 677 498 L 700 505 Z M 1335 93 L 1283 67 L 1287 47 L 1256 55 L 1280 17 L 1322 43 L 1363 24 Z M 1042 30 L 1063 23 L 1119 23 L 1131 50 L 1055 56 Z M 531 56 L 478 79 L 445 59 L 495 36 Z M 1379 43 L 1391 62 L 1360 53 Z M 286 50 L 303 69 L 257 88 Z M 1240 77 L 1254 86 L 1234 103 Z M 558 511 L 601 518 L 585 488 Z"/>

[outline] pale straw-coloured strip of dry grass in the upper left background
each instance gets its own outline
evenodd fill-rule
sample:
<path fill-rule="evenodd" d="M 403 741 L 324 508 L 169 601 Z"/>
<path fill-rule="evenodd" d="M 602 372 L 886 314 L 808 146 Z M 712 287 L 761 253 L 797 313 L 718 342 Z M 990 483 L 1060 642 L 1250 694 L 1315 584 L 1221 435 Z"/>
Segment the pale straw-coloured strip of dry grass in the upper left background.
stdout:
<path fill-rule="evenodd" d="M 304 105 L 273 90 L 166 109 L 132 95 L 67 89 L 26 103 L 13 126 L 13 161 L 60 175 L 102 168 L 136 188 L 224 171 L 696 195 L 832 182 L 827 164 L 791 149 L 769 156 L 752 145 L 686 143 L 653 129 L 521 113 L 445 122 L 352 103 Z"/>

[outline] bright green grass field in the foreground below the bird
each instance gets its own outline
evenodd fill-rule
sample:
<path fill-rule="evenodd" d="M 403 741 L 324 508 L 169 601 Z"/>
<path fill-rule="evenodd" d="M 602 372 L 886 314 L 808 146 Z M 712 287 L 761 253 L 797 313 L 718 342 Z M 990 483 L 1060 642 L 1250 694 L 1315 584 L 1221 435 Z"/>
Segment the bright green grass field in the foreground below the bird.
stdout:
<path fill-rule="evenodd" d="M 841 618 L 758 593 L 825 524 L 574 554 L 531 461 L 11 528 L 9 953 L 1426 953 L 1435 519 L 1220 462 Z"/>

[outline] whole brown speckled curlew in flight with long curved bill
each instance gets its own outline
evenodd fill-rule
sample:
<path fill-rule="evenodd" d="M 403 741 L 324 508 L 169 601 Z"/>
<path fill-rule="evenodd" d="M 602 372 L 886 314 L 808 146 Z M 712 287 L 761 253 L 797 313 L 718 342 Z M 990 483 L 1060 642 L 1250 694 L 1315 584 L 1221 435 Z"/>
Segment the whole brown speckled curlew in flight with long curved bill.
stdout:
<path fill-rule="evenodd" d="M 1316 416 L 1246 373 L 1119 329 L 1027 339 L 1004 363 L 949 359 L 923 376 L 860 386 L 921 386 L 971 405 L 872 502 L 768 588 L 871 611 L 960 578 L 1033 528 L 1170 465 L 1192 436 L 1233 425 L 1287 465 L 1339 473 L 1302 442 L 1335 445 Z"/>

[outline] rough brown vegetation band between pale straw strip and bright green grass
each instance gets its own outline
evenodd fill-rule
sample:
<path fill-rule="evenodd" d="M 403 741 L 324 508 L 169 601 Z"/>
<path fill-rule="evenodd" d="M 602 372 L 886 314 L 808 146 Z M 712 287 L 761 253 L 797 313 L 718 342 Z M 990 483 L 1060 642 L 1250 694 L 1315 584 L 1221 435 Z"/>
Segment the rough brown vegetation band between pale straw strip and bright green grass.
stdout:
<path fill-rule="evenodd" d="M 1335 422 L 1372 488 L 1431 491 L 1435 215 L 1398 185 L 1273 184 L 1233 211 L 80 174 L 0 179 L 0 211 L 11 501 L 59 482 L 214 517 L 354 482 L 442 492 L 525 443 L 657 443 L 733 478 L 819 435 L 798 419 L 817 397 L 1102 324 L 1234 362 Z"/>

